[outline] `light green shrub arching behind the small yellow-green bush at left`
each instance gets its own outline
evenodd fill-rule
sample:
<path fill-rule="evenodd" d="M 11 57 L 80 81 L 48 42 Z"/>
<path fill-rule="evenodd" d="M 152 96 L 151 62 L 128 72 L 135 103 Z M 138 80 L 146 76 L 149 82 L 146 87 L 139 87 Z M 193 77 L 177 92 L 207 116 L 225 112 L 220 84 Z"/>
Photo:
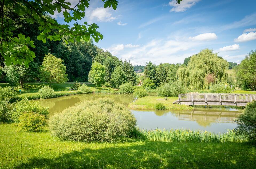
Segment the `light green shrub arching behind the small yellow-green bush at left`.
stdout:
<path fill-rule="evenodd" d="M 14 104 L 13 109 L 11 111 L 11 119 L 15 123 L 19 123 L 19 117 L 25 112 L 32 112 L 35 114 L 43 115 L 46 119 L 48 119 L 48 108 L 43 107 L 39 104 L 38 101 L 29 101 L 27 98 L 18 101 Z"/>

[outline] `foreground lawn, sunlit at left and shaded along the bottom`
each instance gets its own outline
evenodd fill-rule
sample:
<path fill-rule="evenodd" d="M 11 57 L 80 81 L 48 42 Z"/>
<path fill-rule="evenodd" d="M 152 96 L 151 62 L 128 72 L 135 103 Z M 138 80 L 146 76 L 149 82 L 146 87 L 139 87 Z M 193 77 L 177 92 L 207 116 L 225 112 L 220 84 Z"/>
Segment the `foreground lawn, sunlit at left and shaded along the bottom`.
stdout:
<path fill-rule="evenodd" d="M 18 132 L 0 124 L 0 168 L 255 168 L 248 143 L 116 143 L 59 141 L 48 131 Z"/>

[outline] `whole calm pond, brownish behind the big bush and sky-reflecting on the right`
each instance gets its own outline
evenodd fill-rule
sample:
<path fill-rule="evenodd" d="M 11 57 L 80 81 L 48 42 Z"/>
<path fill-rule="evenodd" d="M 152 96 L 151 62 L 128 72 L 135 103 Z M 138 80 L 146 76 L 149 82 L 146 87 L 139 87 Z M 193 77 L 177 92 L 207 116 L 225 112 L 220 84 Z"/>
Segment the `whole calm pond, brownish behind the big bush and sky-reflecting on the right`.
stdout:
<path fill-rule="evenodd" d="M 73 106 L 75 103 L 95 100 L 108 97 L 116 102 L 128 105 L 134 101 L 132 94 L 80 94 L 64 96 L 52 99 L 40 99 L 39 102 L 44 107 L 49 107 L 50 116 L 55 112 Z M 214 133 L 223 133 L 227 129 L 236 128 L 234 119 L 240 114 L 239 107 L 205 107 L 196 106 L 194 111 L 156 111 L 156 110 L 131 110 L 137 119 L 138 127 L 141 129 L 199 129 Z"/>

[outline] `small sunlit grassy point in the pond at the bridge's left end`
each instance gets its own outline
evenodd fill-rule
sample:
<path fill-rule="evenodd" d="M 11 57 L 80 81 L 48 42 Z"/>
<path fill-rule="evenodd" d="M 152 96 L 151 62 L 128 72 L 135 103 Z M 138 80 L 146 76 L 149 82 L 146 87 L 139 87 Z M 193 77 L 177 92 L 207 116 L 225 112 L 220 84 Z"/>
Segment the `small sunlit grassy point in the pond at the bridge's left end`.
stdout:
<path fill-rule="evenodd" d="M 129 108 L 131 109 L 155 109 L 156 103 L 163 103 L 166 110 L 193 110 L 194 108 L 188 105 L 178 105 L 172 104 L 176 102 L 178 97 L 168 97 L 169 100 L 157 100 L 164 99 L 164 97 L 160 96 L 145 96 L 143 98 L 137 99 L 135 102 L 129 104 Z"/>

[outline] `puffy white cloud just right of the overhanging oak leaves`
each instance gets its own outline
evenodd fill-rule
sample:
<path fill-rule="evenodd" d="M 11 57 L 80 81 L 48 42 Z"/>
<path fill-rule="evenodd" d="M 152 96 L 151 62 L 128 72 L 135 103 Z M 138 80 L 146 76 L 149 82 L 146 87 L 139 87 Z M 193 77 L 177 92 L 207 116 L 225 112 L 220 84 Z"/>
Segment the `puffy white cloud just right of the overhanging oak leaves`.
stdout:
<path fill-rule="evenodd" d="M 97 19 L 99 22 L 112 22 L 113 20 L 117 19 L 116 16 L 112 16 L 110 8 L 96 8 L 89 14 L 89 18 L 93 20 L 94 18 Z"/>

